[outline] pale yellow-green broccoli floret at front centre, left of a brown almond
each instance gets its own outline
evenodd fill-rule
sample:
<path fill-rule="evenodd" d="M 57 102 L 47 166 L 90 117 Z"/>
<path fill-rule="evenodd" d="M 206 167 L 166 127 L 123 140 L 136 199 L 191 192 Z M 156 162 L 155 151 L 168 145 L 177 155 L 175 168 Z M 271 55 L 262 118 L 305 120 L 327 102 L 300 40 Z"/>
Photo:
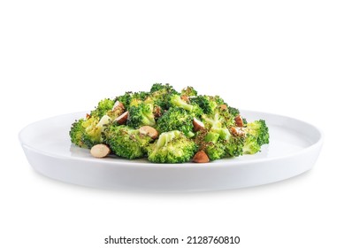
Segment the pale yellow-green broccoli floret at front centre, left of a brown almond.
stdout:
<path fill-rule="evenodd" d="M 153 163 L 184 163 L 194 157 L 197 145 L 180 131 L 162 133 L 149 146 L 148 159 Z"/>

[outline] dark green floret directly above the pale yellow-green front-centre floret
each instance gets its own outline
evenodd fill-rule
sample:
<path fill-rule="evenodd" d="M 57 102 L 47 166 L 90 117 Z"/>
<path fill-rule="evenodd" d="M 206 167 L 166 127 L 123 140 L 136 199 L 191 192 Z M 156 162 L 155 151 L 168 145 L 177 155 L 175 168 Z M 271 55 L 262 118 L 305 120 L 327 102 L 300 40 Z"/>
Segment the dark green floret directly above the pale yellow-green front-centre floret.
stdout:
<path fill-rule="evenodd" d="M 193 117 L 180 107 L 172 107 L 157 120 L 157 130 L 164 133 L 179 130 L 187 137 L 194 136 Z"/>

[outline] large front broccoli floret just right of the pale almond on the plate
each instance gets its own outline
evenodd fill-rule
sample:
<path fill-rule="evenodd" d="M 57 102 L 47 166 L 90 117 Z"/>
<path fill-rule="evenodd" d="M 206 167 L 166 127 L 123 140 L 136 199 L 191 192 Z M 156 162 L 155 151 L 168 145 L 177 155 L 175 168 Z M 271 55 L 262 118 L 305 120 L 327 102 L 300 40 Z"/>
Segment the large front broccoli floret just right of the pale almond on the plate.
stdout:
<path fill-rule="evenodd" d="M 117 156 L 126 159 L 138 159 L 147 156 L 147 147 L 152 139 L 149 136 L 141 135 L 138 129 L 127 126 L 112 126 L 105 132 L 105 143 Z"/>

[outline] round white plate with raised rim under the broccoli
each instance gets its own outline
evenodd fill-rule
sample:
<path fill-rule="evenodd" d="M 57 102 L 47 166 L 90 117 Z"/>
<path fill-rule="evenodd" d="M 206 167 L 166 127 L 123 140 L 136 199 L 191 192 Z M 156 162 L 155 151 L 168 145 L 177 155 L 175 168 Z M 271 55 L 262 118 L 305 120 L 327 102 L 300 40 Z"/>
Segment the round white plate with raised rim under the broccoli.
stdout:
<path fill-rule="evenodd" d="M 264 119 L 270 144 L 255 155 L 207 164 L 152 164 L 146 159 L 93 158 L 70 142 L 69 129 L 85 112 L 28 125 L 20 143 L 34 170 L 50 178 L 106 189 L 157 191 L 226 190 L 278 182 L 310 170 L 323 142 L 321 132 L 301 120 L 242 111 L 248 121 Z"/>

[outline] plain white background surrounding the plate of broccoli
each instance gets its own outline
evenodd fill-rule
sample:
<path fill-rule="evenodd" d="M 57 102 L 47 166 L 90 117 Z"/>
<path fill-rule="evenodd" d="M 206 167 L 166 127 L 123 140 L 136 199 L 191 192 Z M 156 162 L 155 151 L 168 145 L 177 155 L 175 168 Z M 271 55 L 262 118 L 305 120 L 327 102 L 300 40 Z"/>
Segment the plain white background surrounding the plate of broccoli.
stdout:
<path fill-rule="evenodd" d="M 0 246 L 211 235 L 241 236 L 236 247 L 344 247 L 340 2 L 1 1 Z M 27 163 L 27 124 L 156 81 L 316 125 L 317 164 L 251 189 L 153 194 L 56 182 Z"/>

